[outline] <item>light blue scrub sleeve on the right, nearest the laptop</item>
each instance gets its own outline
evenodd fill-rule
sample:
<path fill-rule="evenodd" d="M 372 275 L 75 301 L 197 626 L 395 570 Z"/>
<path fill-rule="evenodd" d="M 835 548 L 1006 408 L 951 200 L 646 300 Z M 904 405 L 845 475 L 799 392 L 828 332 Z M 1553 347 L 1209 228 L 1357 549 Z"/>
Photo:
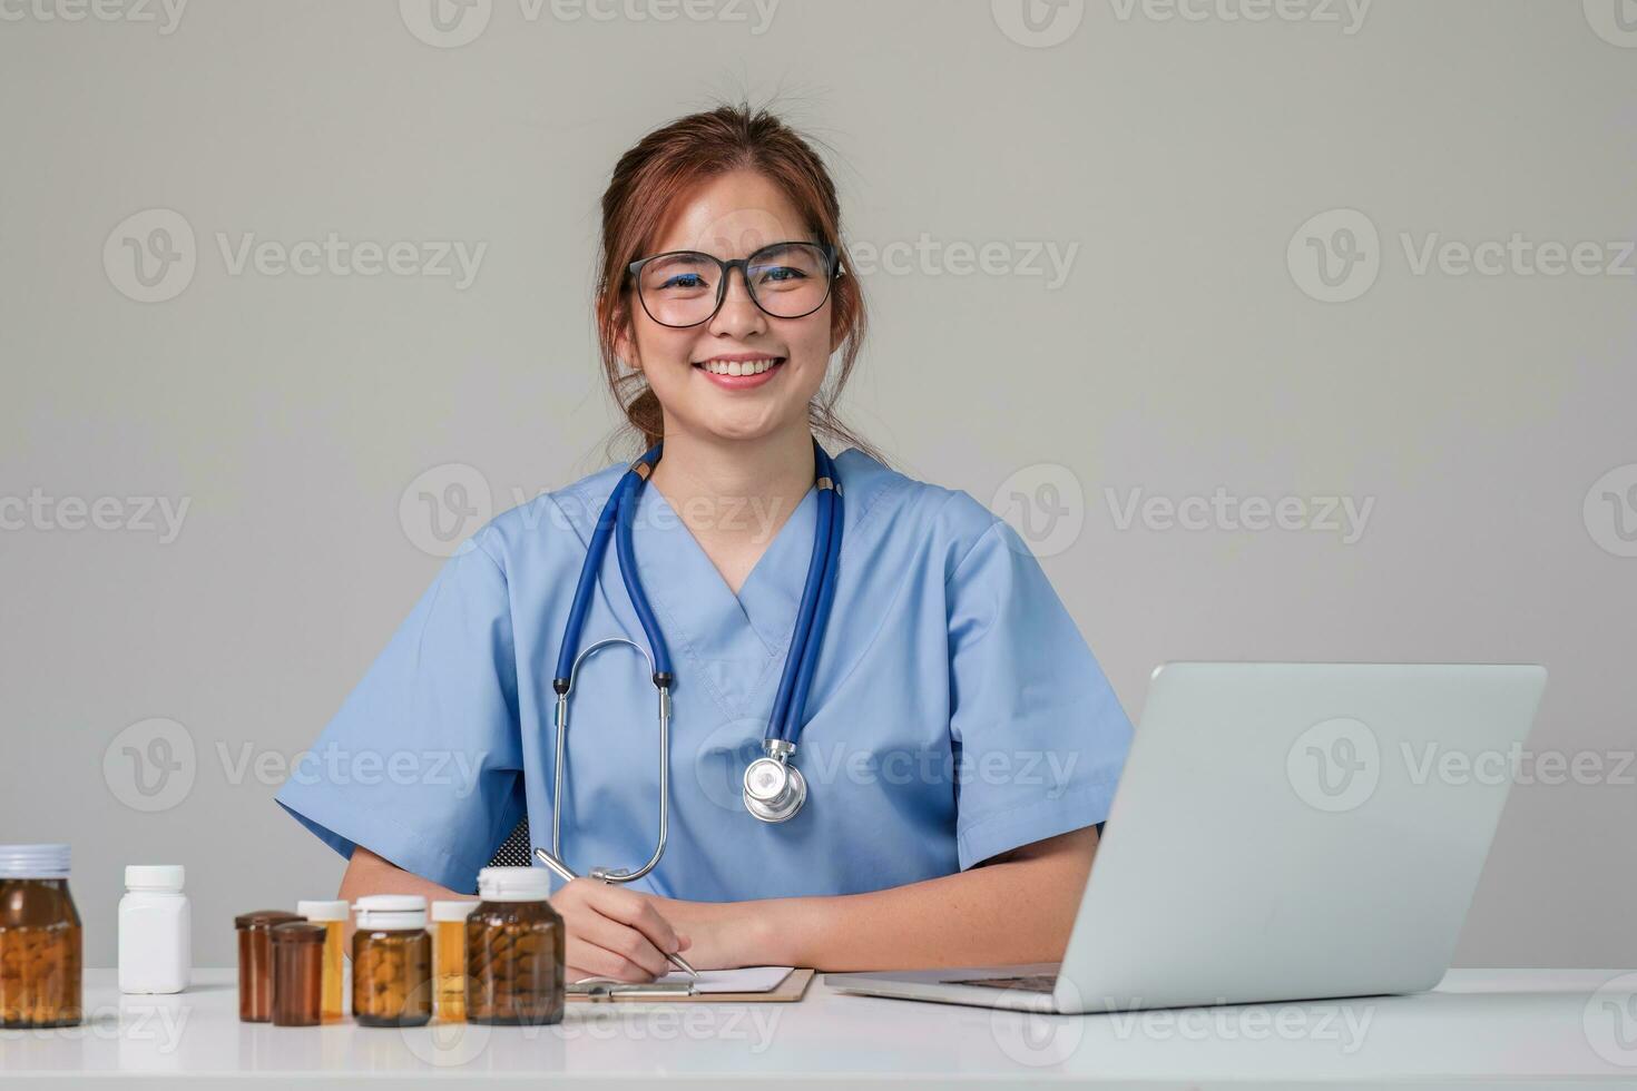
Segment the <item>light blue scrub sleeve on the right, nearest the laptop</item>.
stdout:
<path fill-rule="evenodd" d="M 1010 525 L 972 545 L 946 602 L 961 869 L 1103 821 L 1131 721 Z"/>

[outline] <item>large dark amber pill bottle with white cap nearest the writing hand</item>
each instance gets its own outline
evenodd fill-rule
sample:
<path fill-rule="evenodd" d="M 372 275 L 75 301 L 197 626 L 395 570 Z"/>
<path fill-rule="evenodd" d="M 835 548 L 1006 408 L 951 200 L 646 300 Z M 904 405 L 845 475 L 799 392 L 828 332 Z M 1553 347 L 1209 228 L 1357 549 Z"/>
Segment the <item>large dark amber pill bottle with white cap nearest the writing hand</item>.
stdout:
<path fill-rule="evenodd" d="M 563 918 L 540 867 L 478 872 L 467 918 L 467 1019 L 545 1024 L 563 1019 Z"/>

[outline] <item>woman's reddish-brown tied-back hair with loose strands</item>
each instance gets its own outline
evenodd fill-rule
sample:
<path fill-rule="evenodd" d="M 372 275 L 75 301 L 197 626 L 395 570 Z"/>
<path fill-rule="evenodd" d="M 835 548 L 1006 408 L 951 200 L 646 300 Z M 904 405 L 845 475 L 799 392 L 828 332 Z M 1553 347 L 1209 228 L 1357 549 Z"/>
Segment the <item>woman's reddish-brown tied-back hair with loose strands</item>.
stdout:
<path fill-rule="evenodd" d="M 853 373 L 866 329 L 864 294 L 841 242 L 841 208 L 835 183 L 802 136 L 766 108 L 753 110 L 743 101 L 688 114 L 648 132 L 619 157 L 602 193 L 602 252 L 596 278 L 598 348 L 609 391 L 629 424 L 614 442 L 635 433 L 643 448 L 648 448 L 660 442 L 665 430 L 660 399 L 640 371 L 620 375 L 614 348 L 616 335 L 627 329 L 632 317 L 625 267 L 653 245 L 653 236 L 678 198 L 697 183 L 732 170 L 755 170 L 769 178 L 784 190 L 814 237 L 837 247 L 845 275 L 837 276 L 830 290 L 830 322 L 832 332 L 846 330 L 846 337 L 840 348 L 840 368 L 818 389 L 807 407 L 807 417 L 815 433 L 886 461 L 835 414 L 835 401 Z"/>

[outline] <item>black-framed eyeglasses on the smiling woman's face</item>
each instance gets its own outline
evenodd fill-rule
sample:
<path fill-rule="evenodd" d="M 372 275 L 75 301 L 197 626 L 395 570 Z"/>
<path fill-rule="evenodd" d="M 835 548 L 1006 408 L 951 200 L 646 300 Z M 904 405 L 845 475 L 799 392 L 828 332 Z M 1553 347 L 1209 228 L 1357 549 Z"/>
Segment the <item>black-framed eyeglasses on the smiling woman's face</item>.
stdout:
<path fill-rule="evenodd" d="M 648 317 L 678 329 L 715 317 L 735 268 L 751 301 L 776 319 L 799 319 L 822 308 L 841 275 L 835 247 L 823 242 L 774 242 L 732 262 L 699 250 L 668 250 L 625 268 Z"/>

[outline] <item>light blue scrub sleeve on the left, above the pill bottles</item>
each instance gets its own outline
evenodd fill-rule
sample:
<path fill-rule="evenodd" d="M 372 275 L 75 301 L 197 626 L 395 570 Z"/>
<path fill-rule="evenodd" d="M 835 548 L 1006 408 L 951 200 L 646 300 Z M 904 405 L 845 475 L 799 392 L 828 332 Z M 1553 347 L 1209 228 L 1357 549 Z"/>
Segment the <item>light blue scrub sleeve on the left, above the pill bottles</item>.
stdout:
<path fill-rule="evenodd" d="M 475 540 L 439 571 L 277 801 L 344 857 L 363 846 L 455 891 L 524 815 L 506 576 Z"/>

